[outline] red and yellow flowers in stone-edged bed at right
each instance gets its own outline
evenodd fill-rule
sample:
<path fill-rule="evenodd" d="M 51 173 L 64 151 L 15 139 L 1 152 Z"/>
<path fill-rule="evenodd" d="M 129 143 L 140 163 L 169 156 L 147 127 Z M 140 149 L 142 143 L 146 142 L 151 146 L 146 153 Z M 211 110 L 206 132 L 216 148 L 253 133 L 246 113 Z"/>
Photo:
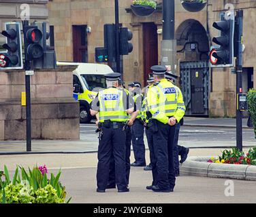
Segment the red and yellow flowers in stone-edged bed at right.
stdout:
<path fill-rule="evenodd" d="M 231 164 L 244 164 L 256 165 L 256 147 L 249 149 L 248 153 L 239 151 L 237 148 L 228 151 L 225 149 L 219 157 L 211 157 L 208 163 L 231 163 Z"/>

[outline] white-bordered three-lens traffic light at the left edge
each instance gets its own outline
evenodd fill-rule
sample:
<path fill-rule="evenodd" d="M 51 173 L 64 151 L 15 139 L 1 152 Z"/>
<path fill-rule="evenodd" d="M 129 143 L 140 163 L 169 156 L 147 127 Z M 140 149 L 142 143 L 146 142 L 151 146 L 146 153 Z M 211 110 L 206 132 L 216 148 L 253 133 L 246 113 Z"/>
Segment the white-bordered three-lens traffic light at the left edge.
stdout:
<path fill-rule="evenodd" d="M 6 37 L 2 45 L 7 52 L 0 54 L 0 69 L 22 69 L 22 42 L 19 22 L 6 22 L 5 30 L 1 33 Z"/>

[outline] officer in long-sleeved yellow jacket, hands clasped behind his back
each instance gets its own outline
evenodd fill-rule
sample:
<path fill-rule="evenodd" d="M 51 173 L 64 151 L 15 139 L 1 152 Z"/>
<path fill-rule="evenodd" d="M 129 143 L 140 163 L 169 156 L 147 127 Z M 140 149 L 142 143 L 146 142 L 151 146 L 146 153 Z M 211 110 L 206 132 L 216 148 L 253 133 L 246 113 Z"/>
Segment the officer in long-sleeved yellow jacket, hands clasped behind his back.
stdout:
<path fill-rule="evenodd" d="M 157 166 L 156 192 L 172 192 L 175 186 L 174 136 L 176 123 L 185 115 L 181 91 L 165 79 L 165 66 L 152 66 L 155 84 L 148 90 L 147 103 L 153 122 L 153 146 Z M 182 105 L 183 104 L 183 105 Z M 148 188 L 147 188 L 148 189 Z"/>

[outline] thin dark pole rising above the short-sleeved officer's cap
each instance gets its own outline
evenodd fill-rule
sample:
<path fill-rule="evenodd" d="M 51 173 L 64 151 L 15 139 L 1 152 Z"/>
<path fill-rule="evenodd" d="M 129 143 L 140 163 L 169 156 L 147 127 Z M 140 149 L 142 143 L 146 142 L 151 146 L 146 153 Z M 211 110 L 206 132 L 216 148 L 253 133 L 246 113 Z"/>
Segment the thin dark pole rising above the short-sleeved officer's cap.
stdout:
<path fill-rule="evenodd" d="M 114 18 L 116 29 L 116 73 L 121 73 L 120 68 L 120 52 L 119 52 L 119 13 L 118 13 L 118 0 L 114 0 Z M 121 75 L 123 77 L 123 75 Z"/>

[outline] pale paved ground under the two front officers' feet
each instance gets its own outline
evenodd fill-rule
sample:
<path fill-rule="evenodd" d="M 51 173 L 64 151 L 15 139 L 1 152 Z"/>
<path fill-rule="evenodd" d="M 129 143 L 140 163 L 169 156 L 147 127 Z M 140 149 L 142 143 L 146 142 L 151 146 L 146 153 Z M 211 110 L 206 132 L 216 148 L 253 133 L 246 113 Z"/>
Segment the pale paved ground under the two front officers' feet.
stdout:
<path fill-rule="evenodd" d="M 132 167 L 129 193 L 117 193 L 116 189 L 96 193 L 95 174 L 94 167 L 63 170 L 61 182 L 72 203 L 256 203 L 255 182 L 250 181 L 231 180 L 234 196 L 227 197 L 226 179 L 180 176 L 174 193 L 154 193 L 145 189 L 151 182 L 151 173 Z"/>

